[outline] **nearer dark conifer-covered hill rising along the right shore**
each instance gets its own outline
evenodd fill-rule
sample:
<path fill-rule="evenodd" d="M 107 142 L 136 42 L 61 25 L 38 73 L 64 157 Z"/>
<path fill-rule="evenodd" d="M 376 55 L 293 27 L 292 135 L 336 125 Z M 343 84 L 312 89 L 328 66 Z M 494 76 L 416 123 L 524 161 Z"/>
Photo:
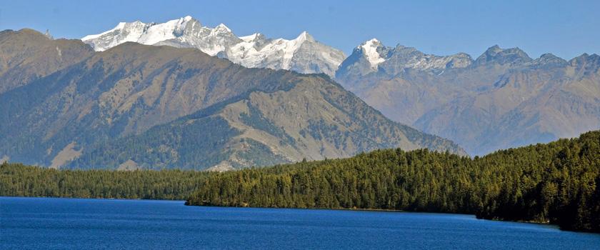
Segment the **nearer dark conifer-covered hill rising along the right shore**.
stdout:
<path fill-rule="evenodd" d="M 475 159 L 389 149 L 214 174 L 188 204 L 466 213 L 600 231 L 599 169 L 593 131 Z"/>

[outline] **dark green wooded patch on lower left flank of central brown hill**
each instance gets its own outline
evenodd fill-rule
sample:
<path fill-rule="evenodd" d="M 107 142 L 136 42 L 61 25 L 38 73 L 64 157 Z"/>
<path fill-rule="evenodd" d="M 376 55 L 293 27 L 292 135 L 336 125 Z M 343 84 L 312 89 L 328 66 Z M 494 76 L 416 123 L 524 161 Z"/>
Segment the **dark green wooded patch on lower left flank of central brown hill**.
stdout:
<path fill-rule="evenodd" d="M 119 139 L 118 143 L 100 144 L 67 167 L 116 169 L 119 163 L 131 159 L 143 169 L 206 169 L 226 159 L 228 155 L 221 149 L 227 139 L 238 134 L 220 117 L 175 121 L 155 126 L 140 136 Z"/>

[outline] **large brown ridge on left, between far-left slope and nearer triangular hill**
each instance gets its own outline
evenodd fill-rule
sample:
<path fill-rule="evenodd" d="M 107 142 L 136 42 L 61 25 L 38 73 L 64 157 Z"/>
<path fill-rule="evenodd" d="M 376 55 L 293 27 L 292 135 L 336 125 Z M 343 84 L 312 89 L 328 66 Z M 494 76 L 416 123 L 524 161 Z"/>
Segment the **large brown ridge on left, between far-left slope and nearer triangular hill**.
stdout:
<path fill-rule="evenodd" d="M 287 82 L 196 49 L 123 44 L 0 96 L 12 160 L 60 166 L 97 141 L 136 134 L 249 89 Z M 269 76 L 274 80 L 270 81 Z M 64 153 L 64 154 L 63 154 Z M 66 154 L 66 155 L 65 155 Z"/>

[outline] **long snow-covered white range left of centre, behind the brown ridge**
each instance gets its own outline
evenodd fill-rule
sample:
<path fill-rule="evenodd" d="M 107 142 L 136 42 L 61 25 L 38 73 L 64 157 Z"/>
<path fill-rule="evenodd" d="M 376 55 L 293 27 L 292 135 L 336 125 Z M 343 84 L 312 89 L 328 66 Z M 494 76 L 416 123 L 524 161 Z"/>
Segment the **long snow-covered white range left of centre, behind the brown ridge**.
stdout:
<path fill-rule="evenodd" d="M 344 52 L 316 41 L 306 31 L 296 39 L 268 39 L 263 34 L 236 36 L 224 24 L 202 26 L 191 16 L 163 24 L 141 21 L 119 23 L 114 29 L 81 39 L 96 51 L 104 51 L 127 41 L 200 49 L 211 56 L 229 59 L 249 68 L 289 69 L 300 73 L 333 76 Z"/>

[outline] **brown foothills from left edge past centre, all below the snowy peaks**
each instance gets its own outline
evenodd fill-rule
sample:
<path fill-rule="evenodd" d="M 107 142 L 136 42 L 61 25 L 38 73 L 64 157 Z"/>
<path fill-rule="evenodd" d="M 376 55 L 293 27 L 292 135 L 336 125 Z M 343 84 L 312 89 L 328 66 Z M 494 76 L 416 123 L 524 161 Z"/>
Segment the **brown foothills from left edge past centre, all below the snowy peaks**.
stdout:
<path fill-rule="evenodd" d="M 249 69 L 156 44 L 94 51 L 30 29 L 2 31 L 0 42 L 3 161 L 221 171 L 394 147 L 466 155 L 387 119 L 326 74 Z"/>

